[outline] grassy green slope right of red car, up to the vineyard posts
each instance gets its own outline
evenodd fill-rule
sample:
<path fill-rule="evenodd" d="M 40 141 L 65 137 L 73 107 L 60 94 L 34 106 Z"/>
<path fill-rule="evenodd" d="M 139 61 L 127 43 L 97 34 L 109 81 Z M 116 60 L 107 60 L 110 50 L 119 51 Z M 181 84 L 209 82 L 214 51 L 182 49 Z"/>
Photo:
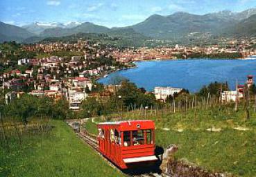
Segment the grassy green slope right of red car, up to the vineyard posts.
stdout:
<path fill-rule="evenodd" d="M 148 110 L 146 114 L 144 111 L 123 114 L 124 120 L 155 120 L 157 145 L 178 145 L 177 159 L 186 159 L 213 171 L 256 176 L 256 113 L 253 107 L 250 108 L 250 120 L 246 120 L 243 106 L 234 112 L 233 105 L 221 109 L 216 106 L 208 111 L 191 109 L 173 113 L 165 109 L 156 113 Z M 112 117 L 118 120 L 114 118 L 117 115 Z"/>

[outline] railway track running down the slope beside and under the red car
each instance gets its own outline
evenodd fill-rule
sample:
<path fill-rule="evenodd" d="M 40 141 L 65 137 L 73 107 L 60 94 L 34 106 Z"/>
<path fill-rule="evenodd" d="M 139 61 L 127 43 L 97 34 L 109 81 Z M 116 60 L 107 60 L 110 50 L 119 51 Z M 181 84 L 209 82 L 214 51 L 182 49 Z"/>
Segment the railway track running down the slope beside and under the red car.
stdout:
<path fill-rule="evenodd" d="M 97 141 L 94 137 L 89 136 L 87 133 L 76 133 L 77 136 L 82 139 L 84 142 L 87 143 L 87 145 L 89 145 L 89 147 L 91 147 L 92 149 L 94 149 L 106 162 L 108 162 L 108 164 L 114 168 L 117 169 L 117 171 L 119 171 L 120 173 L 126 175 L 126 176 L 133 176 L 133 177 L 162 177 L 161 174 L 153 174 L 153 173 L 147 173 L 147 174 L 139 174 L 139 175 L 129 175 L 129 174 L 125 174 L 123 171 L 121 171 L 121 169 L 119 169 L 117 166 L 115 166 L 112 162 L 110 162 L 107 158 L 105 158 L 104 156 L 102 156 L 102 154 L 99 151 L 99 145 L 97 144 Z"/>

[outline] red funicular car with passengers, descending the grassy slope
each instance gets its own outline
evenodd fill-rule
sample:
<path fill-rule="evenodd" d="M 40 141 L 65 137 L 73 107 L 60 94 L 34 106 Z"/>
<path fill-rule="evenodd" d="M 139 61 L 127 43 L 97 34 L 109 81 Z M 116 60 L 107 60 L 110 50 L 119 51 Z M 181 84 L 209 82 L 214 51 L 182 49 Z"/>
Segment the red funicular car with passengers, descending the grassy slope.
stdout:
<path fill-rule="evenodd" d="M 99 151 L 121 169 L 157 160 L 153 121 L 102 122 L 97 127 Z"/>

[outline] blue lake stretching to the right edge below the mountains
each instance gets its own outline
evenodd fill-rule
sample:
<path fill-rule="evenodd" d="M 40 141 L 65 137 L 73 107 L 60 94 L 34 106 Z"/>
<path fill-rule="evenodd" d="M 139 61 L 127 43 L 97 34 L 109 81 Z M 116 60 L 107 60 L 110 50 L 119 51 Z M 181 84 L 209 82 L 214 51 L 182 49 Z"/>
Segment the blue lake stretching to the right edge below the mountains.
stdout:
<path fill-rule="evenodd" d="M 135 82 L 138 87 L 153 91 L 155 86 L 187 88 L 199 91 L 210 82 L 228 82 L 234 89 L 236 80 L 243 84 L 247 75 L 256 76 L 256 60 L 239 59 L 190 59 L 136 62 L 137 68 L 117 71 L 99 82 L 110 84 L 117 75 Z"/>

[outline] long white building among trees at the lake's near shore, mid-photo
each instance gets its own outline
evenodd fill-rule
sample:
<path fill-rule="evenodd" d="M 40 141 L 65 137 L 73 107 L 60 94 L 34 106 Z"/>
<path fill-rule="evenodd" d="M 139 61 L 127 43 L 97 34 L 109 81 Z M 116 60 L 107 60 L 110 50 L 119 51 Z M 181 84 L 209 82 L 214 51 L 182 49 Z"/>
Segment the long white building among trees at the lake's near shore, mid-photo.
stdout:
<path fill-rule="evenodd" d="M 180 93 L 180 91 L 182 91 L 182 88 L 156 86 L 154 94 L 157 100 L 167 100 L 167 96 L 173 96 L 174 93 Z"/>

